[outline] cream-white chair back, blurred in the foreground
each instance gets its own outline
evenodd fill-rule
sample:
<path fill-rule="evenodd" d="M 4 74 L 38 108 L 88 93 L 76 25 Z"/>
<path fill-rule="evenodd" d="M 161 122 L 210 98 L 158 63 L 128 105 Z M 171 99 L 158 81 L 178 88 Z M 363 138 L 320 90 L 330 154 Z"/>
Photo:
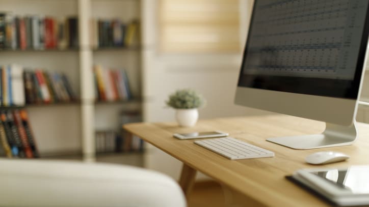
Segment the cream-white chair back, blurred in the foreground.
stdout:
<path fill-rule="evenodd" d="M 178 184 L 136 167 L 0 159 L 0 206 L 184 207 Z"/>

